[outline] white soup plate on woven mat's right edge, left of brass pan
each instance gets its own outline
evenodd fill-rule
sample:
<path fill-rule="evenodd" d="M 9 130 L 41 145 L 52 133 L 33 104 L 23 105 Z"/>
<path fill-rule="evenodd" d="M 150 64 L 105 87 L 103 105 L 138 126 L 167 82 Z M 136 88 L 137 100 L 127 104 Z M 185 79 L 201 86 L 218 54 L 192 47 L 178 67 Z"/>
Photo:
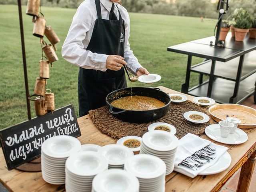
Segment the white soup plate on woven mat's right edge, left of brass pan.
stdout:
<path fill-rule="evenodd" d="M 183 114 L 184 118 L 192 123 L 206 123 L 210 120 L 210 117 L 202 112 L 188 111 Z"/>

